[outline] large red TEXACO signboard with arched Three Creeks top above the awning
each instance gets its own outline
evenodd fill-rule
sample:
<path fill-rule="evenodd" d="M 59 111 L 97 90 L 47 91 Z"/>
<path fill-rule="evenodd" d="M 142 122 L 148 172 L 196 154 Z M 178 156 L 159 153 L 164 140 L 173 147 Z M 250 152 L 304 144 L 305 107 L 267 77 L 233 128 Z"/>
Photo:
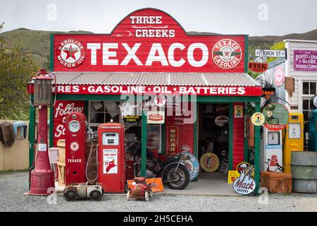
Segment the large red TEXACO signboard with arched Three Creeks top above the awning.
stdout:
<path fill-rule="evenodd" d="M 245 72 L 247 35 L 188 35 L 155 8 L 130 13 L 108 35 L 52 39 L 54 71 Z"/>

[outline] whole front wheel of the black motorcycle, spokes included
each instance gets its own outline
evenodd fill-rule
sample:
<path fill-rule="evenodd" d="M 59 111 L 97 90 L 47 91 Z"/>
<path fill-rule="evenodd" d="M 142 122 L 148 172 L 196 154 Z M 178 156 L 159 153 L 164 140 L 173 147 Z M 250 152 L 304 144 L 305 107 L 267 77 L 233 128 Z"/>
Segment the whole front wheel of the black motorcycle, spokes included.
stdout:
<path fill-rule="evenodd" d="M 189 184 L 190 175 L 185 165 L 169 165 L 163 174 L 163 181 L 170 189 L 182 190 Z"/>

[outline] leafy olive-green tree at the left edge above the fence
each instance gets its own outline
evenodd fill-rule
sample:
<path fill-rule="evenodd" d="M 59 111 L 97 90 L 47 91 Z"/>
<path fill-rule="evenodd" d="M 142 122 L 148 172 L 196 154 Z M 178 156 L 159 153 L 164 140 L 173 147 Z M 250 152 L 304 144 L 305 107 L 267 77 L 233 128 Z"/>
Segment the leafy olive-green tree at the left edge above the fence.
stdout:
<path fill-rule="evenodd" d="M 4 23 L 0 24 L 0 30 Z M 0 39 L 0 119 L 27 119 L 27 82 L 36 71 L 30 55 L 23 54 L 22 47 L 11 46 Z"/>

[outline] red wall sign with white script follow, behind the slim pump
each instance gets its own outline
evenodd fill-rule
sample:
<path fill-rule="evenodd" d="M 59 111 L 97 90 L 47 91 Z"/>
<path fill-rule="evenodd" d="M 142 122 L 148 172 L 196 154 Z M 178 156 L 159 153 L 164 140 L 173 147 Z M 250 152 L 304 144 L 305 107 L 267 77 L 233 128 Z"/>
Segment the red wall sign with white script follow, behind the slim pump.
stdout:
<path fill-rule="evenodd" d="M 84 113 L 85 102 L 56 100 L 54 105 L 54 146 L 59 139 L 65 138 L 66 116 L 72 112 Z"/>

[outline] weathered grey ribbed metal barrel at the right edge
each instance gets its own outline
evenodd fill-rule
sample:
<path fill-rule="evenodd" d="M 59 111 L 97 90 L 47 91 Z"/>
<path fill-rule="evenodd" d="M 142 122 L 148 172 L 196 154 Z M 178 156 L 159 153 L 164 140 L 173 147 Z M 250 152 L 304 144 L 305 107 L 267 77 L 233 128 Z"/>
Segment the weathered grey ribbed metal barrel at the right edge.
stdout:
<path fill-rule="evenodd" d="M 317 193 L 317 152 L 292 152 L 292 189 L 299 193 Z"/>

